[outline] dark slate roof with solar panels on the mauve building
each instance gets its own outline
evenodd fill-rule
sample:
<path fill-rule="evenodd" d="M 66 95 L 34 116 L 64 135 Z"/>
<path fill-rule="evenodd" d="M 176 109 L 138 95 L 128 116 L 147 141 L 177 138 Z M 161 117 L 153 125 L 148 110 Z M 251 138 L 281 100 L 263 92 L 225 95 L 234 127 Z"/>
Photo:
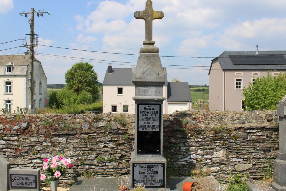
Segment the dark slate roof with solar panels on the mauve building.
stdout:
<path fill-rule="evenodd" d="M 212 63 L 215 60 L 219 60 L 219 64 L 223 70 L 286 70 L 286 60 L 281 59 L 281 57 L 286 58 L 286 51 L 273 50 L 259 51 L 258 53 L 256 54 L 256 51 L 225 51 L 213 59 Z M 245 59 L 241 59 L 244 56 Z M 275 57 L 280 57 L 280 60 L 275 60 Z M 233 64 L 231 59 L 233 59 L 235 64 Z M 236 59 L 239 59 L 239 62 L 243 63 L 239 64 Z M 211 69 L 212 64 L 210 65 Z M 208 75 L 210 74 L 210 70 Z"/>

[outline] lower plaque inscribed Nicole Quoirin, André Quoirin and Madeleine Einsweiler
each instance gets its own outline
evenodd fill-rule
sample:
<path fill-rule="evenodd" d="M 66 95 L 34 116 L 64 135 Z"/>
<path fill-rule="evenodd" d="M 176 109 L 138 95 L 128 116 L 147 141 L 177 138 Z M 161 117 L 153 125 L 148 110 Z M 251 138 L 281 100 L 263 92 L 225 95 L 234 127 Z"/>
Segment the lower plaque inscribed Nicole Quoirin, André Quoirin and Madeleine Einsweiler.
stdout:
<path fill-rule="evenodd" d="M 165 184 L 164 163 L 134 163 L 133 164 L 133 188 L 134 184 L 143 183 L 146 188 L 162 187 Z"/>

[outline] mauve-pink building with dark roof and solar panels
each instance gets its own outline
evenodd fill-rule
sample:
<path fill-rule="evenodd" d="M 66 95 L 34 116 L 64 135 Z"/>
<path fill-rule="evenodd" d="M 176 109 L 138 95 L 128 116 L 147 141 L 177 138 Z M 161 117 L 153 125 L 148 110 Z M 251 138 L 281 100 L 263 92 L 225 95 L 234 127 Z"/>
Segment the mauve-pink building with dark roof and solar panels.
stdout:
<path fill-rule="evenodd" d="M 212 60 L 209 75 L 209 109 L 242 111 L 242 89 L 255 78 L 286 71 L 286 51 L 225 51 Z"/>

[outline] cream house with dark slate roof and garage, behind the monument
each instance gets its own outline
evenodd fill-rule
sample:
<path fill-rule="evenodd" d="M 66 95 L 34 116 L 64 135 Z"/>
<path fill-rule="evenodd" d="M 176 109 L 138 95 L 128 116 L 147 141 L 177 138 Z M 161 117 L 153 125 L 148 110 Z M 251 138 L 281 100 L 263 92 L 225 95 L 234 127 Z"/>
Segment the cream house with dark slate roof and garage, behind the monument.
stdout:
<path fill-rule="evenodd" d="M 135 114 L 135 86 L 132 83 L 132 68 L 112 68 L 108 66 L 103 80 L 103 113 Z M 192 97 L 187 82 L 166 82 L 163 94 L 167 99 L 163 102 L 163 113 L 176 110 L 190 110 Z"/>

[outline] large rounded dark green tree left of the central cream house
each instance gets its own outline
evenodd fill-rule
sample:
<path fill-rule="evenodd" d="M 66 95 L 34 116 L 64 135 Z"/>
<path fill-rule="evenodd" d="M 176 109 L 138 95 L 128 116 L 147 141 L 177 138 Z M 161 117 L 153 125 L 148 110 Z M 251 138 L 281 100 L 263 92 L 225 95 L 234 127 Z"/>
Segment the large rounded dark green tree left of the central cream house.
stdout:
<path fill-rule="evenodd" d="M 92 103 L 99 99 L 98 76 L 94 72 L 92 64 L 88 62 L 78 62 L 65 73 L 66 88 L 76 92 L 78 95 L 82 91 L 91 94 Z"/>

